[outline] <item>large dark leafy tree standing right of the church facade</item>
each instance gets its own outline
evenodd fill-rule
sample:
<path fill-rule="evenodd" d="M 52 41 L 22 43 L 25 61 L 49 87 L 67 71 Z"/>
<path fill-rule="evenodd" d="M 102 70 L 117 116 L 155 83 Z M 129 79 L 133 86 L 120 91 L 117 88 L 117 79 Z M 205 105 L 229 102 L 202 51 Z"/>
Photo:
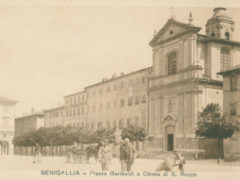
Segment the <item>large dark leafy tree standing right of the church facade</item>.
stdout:
<path fill-rule="evenodd" d="M 232 137 L 239 130 L 238 121 L 231 116 L 222 115 L 219 104 L 208 104 L 198 114 L 196 135 L 218 139 L 218 158 L 223 158 L 223 139 Z"/>

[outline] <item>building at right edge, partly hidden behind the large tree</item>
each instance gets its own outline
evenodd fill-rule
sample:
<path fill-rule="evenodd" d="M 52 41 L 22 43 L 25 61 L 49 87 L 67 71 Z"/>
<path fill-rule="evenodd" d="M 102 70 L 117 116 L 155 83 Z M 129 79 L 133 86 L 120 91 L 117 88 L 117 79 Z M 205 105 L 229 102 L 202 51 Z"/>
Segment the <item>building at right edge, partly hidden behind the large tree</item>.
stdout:
<path fill-rule="evenodd" d="M 218 74 L 223 76 L 223 113 L 240 122 L 240 65 Z M 240 132 L 224 141 L 224 156 L 240 160 Z"/>

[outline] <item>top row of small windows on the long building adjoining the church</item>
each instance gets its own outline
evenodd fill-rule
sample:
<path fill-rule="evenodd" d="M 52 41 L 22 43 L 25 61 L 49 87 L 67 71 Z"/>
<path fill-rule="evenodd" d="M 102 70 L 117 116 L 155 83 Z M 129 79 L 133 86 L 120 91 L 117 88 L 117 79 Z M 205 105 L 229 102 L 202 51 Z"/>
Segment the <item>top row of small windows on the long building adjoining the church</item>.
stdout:
<path fill-rule="evenodd" d="M 129 79 L 128 85 L 129 85 L 129 86 L 132 86 L 132 85 L 134 85 L 134 84 L 140 84 L 140 83 L 145 84 L 146 82 L 147 82 L 147 77 L 143 76 L 142 78 L 137 77 L 135 80 Z M 116 91 L 118 88 L 119 88 L 119 89 L 123 89 L 123 88 L 126 87 L 126 86 L 127 86 L 127 84 L 126 84 L 124 81 L 121 81 L 121 82 L 119 83 L 119 87 L 118 87 L 118 84 L 114 84 L 113 86 L 108 85 L 108 86 L 106 87 L 106 91 L 104 91 L 104 88 L 100 88 L 100 89 L 98 89 L 98 91 L 92 90 L 91 92 L 88 93 L 88 97 L 95 97 L 95 95 L 96 95 L 97 93 L 98 93 L 98 94 L 103 94 L 104 92 L 109 93 L 109 92 L 111 92 L 111 91 Z"/>

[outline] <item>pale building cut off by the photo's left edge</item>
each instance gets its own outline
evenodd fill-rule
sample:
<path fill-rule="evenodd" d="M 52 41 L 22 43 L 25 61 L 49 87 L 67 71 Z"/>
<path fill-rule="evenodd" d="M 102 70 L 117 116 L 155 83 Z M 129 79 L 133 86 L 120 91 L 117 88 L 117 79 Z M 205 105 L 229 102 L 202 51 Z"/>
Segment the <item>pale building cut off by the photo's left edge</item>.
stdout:
<path fill-rule="evenodd" d="M 0 155 L 12 154 L 14 137 L 14 110 L 17 101 L 0 97 Z"/>

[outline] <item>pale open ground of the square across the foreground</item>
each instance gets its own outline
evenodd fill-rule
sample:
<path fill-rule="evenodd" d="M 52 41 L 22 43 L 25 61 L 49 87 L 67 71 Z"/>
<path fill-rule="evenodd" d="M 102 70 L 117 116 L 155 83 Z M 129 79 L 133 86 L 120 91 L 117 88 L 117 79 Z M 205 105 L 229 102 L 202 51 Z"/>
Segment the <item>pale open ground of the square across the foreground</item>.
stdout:
<path fill-rule="evenodd" d="M 129 179 L 240 179 L 240 163 L 222 163 L 218 165 L 216 160 L 187 161 L 184 169 L 185 174 L 181 175 L 178 168 L 173 171 L 176 176 L 164 172 L 157 173 L 155 169 L 161 160 L 136 159 L 132 167 L 134 176 L 129 174 Z M 89 164 L 65 163 L 64 157 L 42 157 L 42 163 L 33 163 L 33 157 L 26 156 L 0 156 L 0 180 L 37 180 L 37 179 L 123 179 L 126 175 L 116 174 L 110 176 L 103 175 L 100 171 L 100 164 L 93 159 Z M 113 159 L 110 167 L 111 171 L 119 172 L 120 163 L 118 159 Z M 62 172 L 61 175 L 59 173 Z M 78 174 L 80 173 L 80 175 Z M 83 173 L 86 173 L 85 175 Z M 137 176 L 139 173 L 140 176 Z M 53 174 L 53 175 L 52 175 Z M 101 174 L 101 175 L 100 175 Z M 160 177 L 159 177 L 160 175 Z M 124 177 L 123 177 L 124 176 Z M 208 177 L 208 178 L 207 178 Z"/>

